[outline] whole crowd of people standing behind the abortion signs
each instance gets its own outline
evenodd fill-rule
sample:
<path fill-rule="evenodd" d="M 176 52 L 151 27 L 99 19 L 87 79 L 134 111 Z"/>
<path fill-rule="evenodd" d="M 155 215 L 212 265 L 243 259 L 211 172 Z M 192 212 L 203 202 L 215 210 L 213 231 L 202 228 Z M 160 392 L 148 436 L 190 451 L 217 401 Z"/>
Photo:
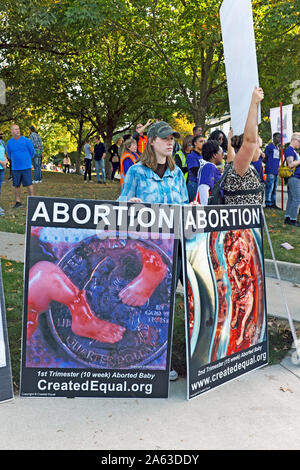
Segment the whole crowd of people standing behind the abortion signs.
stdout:
<path fill-rule="evenodd" d="M 111 164 L 111 180 L 121 185 L 120 201 L 152 203 L 195 203 L 207 205 L 216 183 L 222 178 L 224 204 L 265 204 L 265 208 L 279 209 L 276 205 L 278 171 L 281 161 L 281 134 L 263 150 L 258 135 L 257 106 L 263 100 L 261 88 L 255 88 L 243 135 L 228 136 L 214 130 L 205 136 L 200 126 L 193 134 L 180 135 L 172 127 L 157 119 L 138 123 L 133 134 L 124 135 L 108 148 L 98 135 L 84 145 L 85 183 L 92 182 L 93 163 L 99 184 L 106 184 L 105 161 Z M 33 184 L 42 182 L 41 162 L 43 143 L 33 126 L 29 137 L 20 133 L 19 126 L 11 126 L 12 137 L 5 144 L 0 133 L 0 191 L 4 170 L 10 162 L 10 178 L 15 188 L 15 208 L 21 206 L 21 190 L 27 187 L 33 195 Z M 296 227 L 300 205 L 300 133 L 294 133 L 284 152 L 284 160 L 291 170 L 288 178 L 288 201 L 285 223 Z M 32 179 L 32 167 L 34 175 Z M 70 172 L 71 160 L 65 154 L 63 171 Z M 4 210 L 0 208 L 0 215 Z"/>

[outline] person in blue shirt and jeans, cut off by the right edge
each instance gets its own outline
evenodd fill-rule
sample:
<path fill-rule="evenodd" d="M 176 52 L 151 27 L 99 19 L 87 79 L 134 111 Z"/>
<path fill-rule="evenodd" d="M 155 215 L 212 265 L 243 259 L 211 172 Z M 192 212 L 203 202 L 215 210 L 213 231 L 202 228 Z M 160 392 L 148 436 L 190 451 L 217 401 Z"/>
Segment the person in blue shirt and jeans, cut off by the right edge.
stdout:
<path fill-rule="evenodd" d="M 295 132 L 291 137 L 291 142 L 284 158 L 289 168 L 294 169 L 293 175 L 288 179 L 288 201 L 285 210 L 285 223 L 300 227 L 297 222 L 298 209 L 300 205 L 300 157 L 297 150 L 300 149 L 300 132 Z"/>

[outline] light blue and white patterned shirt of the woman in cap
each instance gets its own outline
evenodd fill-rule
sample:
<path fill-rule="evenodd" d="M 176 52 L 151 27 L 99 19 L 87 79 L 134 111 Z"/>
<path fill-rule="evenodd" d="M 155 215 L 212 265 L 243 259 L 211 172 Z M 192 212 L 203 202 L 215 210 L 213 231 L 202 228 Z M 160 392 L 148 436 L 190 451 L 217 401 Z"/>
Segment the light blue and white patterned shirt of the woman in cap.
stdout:
<path fill-rule="evenodd" d="M 137 197 L 151 204 L 188 204 L 189 198 L 184 176 L 180 168 L 169 168 L 160 178 L 150 168 L 136 163 L 125 175 L 122 192 L 118 201 L 128 202 Z"/>

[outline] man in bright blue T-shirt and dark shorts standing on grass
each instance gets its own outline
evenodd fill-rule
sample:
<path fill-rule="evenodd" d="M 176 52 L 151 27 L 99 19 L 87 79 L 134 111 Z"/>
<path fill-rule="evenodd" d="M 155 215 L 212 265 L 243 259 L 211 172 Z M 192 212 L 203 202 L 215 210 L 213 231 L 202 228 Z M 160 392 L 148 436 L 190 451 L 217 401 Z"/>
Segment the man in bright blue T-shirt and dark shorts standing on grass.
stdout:
<path fill-rule="evenodd" d="M 21 207 L 21 183 L 28 188 L 28 195 L 33 196 L 31 159 L 35 151 L 32 142 L 21 136 L 20 128 L 13 124 L 10 128 L 12 138 L 6 144 L 6 152 L 12 163 L 12 180 L 15 188 L 16 203 L 14 208 Z"/>

